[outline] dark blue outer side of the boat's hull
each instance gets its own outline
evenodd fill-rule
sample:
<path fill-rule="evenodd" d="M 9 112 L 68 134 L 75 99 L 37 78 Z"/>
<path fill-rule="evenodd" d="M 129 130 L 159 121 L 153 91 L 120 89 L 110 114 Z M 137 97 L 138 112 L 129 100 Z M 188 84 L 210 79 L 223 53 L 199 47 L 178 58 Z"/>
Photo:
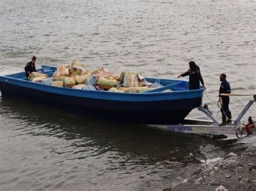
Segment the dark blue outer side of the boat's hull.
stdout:
<path fill-rule="evenodd" d="M 34 103 L 54 105 L 64 110 L 83 112 L 115 121 L 143 124 L 178 124 L 193 108 L 197 108 L 201 104 L 201 96 L 192 96 L 191 98 L 178 96 L 180 98 L 175 99 L 163 97 L 162 100 L 158 100 L 151 98 L 150 95 L 145 95 L 145 98 L 138 96 L 126 100 L 118 100 L 118 98 L 114 98 L 115 95 L 112 98 L 111 95 L 113 94 L 107 94 L 105 95 L 108 97 L 106 100 L 100 97 L 78 96 L 75 94 L 76 91 L 74 91 L 73 95 L 59 92 L 68 88 L 56 87 L 57 91 L 51 91 L 51 89 L 45 87 L 41 89 L 35 88 L 31 84 L 32 82 L 18 85 L 0 81 L 0 89 L 3 97 L 16 96 Z M 37 86 L 39 85 L 42 84 L 37 84 Z M 49 87 L 52 88 L 52 86 Z"/>

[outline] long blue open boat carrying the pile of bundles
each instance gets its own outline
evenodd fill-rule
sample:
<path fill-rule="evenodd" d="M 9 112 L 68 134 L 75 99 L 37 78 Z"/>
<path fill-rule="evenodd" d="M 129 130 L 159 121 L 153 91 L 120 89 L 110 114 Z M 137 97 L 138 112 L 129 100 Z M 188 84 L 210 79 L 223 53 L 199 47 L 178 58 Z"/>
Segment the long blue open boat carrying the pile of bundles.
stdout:
<path fill-rule="evenodd" d="M 56 67 L 42 66 L 52 76 Z M 2 96 L 16 96 L 29 101 L 56 105 L 65 110 L 85 112 L 97 117 L 142 124 L 179 124 L 202 103 L 203 87 L 189 90 L 182 80 L 146 78 L 164 87 L 144 93 L 116 93 L 80 90 L 31 82 L 25 72 L 0 76 Z M 162 92 L 171 89 L 171 92 Z"/>

